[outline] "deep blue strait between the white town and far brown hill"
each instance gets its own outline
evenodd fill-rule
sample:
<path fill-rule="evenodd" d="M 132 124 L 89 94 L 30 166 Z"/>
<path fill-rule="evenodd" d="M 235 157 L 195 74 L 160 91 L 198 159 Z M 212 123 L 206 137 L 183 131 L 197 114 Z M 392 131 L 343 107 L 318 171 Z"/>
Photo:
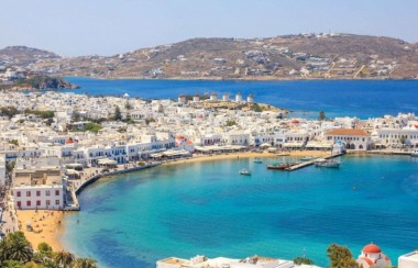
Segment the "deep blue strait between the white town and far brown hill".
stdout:
<path fill-rule="evenodd" d="M 299 81 L 195 81 L 195 80 L 105 80 L 68 78 L 81 87 L 75 92 L 99 96 L 128 92 L 145 99 L 177 98 L 179 93 L 253 93 L 256 102 L 286 108 L 294 116 L 383 116 L 418 112 L 418 80 L 299 80 Z"/>

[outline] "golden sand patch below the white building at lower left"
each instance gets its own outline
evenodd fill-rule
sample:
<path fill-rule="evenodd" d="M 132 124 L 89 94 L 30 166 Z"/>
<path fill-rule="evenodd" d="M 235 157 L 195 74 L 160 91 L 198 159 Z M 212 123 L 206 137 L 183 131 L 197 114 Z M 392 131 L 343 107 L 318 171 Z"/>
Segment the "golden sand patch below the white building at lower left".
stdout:
<path fill-rule="evenodd" d="M 20 230 L 24 233 L 33 248 L 36 248 L 41 242 L 46 242 L 54 250 L 62 250 L 58 236 L 63 231 L 62 222 L 64 213 L 62 211 L 38 210 L 18 210 Z M 33 231 L 26 230 L 26 223 L 31 223 Z"/>

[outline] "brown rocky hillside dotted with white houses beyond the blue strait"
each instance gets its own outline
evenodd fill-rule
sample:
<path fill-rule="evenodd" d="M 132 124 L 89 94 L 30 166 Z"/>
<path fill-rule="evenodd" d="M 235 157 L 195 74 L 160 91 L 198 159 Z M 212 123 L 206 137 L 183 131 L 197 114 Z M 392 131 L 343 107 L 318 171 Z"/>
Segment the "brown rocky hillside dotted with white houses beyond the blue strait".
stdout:
<path fill-rule="evenodd" d="M 37 49 L 24 56 L 23 52 L 12 54 L 10 49 L 0 51 L 0 65 L 1 56 L 7 55 L 11 62 L 29 63 L 33 71 L 65 76 L 265 80 L 418 78 L 418 44 L 352 34 L 194 38 L 110 57 L 62 58 Z M 21 56 L 18 58 L 18 55 Z"/>

